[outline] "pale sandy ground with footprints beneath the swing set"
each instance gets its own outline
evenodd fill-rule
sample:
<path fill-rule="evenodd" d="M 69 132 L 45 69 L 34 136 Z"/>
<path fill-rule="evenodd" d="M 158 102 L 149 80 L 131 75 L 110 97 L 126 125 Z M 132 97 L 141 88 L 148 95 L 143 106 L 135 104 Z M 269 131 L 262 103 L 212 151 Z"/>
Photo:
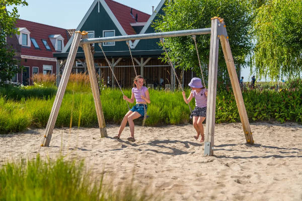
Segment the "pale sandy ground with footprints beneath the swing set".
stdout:
<path fill-rule="evenodd" d="M 49 147 L 39 148 L 44 130 L 0 135 L 0 164 L 20 157 L 55 159 L 62 150 L 84 159 L 94 173 L 105 171 L 113 184 L 134 182 L 164 196 L 163 200 L 302 200 L 302 126 L 251 124 L 255 145 L 245 144 L 240 123 L 215 126 L 214 156 L 204 157 L 203 143 L 192 125 L 135 127 L 134 143 L 126 127 L 55 129 Z"/>

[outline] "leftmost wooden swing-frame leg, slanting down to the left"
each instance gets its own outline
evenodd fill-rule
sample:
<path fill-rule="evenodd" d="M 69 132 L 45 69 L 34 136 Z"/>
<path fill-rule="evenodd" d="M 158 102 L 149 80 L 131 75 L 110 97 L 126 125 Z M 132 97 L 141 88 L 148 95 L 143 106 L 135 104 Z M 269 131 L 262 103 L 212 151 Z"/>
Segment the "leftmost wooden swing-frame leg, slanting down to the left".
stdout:
<path fill-rule="evenodd" d="M 60 81 L 60 84 L 58 86 L 58 90 L 56 93 L 56 96 L 54 98 L 54 103 L 50 112 L 50 116 L 46 125 L 45 129 L 45 135 L 43 139 L 43 143 L 41 146 L 49 146 L 52 131 L 62 104 L 62 99 L 66 90 L 67 82 L 70 76 L 71 68 L 75 59 L 75 56 L 77 55 L 79 44 L 81 41 L 81 32 L 76 31 L 74 32 L 73 40 L 70 46 L 70 51 L 66 60 L 66 65 L 62 74 L 62 80 Z"/>

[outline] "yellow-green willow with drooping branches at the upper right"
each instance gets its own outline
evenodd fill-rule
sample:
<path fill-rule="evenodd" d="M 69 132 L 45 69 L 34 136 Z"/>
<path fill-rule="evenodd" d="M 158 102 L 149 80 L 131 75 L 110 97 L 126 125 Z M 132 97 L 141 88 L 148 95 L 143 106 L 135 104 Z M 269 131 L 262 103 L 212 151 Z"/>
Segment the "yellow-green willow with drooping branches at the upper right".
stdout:
<path fill-rule="evenodd" d="M 254 61 L 260 77 L 300 76 L 301 14 L 301 0 L 271 0 L 257 10 Z"/>

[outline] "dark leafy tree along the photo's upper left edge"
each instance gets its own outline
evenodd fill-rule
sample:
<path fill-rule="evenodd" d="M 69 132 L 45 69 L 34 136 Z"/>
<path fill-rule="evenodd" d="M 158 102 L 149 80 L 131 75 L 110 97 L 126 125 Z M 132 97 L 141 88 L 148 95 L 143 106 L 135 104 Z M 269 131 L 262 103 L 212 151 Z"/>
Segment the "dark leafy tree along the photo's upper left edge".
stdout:
<path fill-rule="evenodd" d="M 15 51 L 6 43 L 6 37 L 17 34 L 16 20 L 19 18 L 16 6 L 27 6 L 22 0 L 1 0 L 0 3 L 0 84 L 10 80 L 14 74 L 20 71 L 14 59 Z M 7 11 L 6 6 L 14 6 L 12 11 Z"/>

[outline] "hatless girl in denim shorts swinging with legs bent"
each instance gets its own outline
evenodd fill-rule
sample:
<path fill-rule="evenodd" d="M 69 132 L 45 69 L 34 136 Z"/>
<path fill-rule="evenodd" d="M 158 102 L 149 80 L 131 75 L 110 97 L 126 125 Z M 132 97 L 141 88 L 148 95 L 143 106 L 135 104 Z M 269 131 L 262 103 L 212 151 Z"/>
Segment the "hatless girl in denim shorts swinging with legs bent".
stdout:
<path fill-rule="evenodd" d="M 147 104 L 150 104 L 149 91 L 147 87 L 143 86 L 143 84 L 144 84 L 143 77 L 141 75 L 137 75 L 133 80 L 131 98 L 128 98 L 126 95 L 123 96 L 124 100 L 126 100 L 131 104 L 134 103 L 134 99 L 135 99 L 136 105 L 133 106 L 124 116 L 118 134 L 114 136 L 114 138 L 116 139 L 120 138 L 128 122 L 130 128 L 130 137 L 127 140 L 131 142 L 135 141 L 133 120 L 139 117 L 143 117 L 145 115 L 145 111 L 147 110 Z"/>

